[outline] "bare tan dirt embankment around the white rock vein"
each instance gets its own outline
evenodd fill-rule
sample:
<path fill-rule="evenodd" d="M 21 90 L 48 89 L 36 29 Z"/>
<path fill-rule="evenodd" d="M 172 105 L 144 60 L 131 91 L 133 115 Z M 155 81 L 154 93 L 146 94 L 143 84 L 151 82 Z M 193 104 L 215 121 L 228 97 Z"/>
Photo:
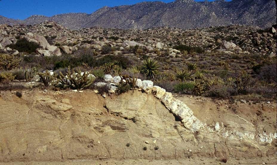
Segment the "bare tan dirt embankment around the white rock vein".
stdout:
<path fill-rule="evenodd" d="M 178 99 L 207 125 L 276 132 L 276 103 Z M 218 164 L 226 157 L 229 163 L 276 163 L 276 140 L 258 144 L 191 133 L 153 95 L 140 91 L 107 98 L 92 91 L 23 91 L 22 98 L 2 91 L 0 105 L 0 162 Z"/>

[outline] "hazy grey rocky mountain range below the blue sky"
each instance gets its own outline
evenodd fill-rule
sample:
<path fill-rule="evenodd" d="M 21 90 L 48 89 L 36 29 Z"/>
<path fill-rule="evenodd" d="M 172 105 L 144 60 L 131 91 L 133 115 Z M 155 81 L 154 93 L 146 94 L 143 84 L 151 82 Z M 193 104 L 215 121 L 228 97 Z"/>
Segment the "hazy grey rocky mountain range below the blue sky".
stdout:
<path fill-rule="evenodd" d="M 33 15 L 23 21 L 0 17 L 0 24 L 36 24 L 56 21 L 70 29 L 93 26 L 119 29 L 176 27 L 191 29 L 209 26 L 243 24 L 270 27 L 276 23 L 273 0 L 233 0 L 195 2 L 176 0 L 172 3 L 142 2 L 134 5 L 103 7 L 92 14 L 67 13 L 46 17 Z"/>

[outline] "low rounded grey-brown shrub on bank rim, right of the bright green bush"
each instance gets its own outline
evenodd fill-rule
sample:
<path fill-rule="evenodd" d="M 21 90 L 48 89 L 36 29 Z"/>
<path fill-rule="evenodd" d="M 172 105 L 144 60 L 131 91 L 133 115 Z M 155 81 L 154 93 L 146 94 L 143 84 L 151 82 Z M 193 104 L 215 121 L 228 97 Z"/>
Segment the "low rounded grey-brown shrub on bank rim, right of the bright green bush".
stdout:
<path fill-rule="evenodd" d="M 209 95 L 217 98 L 228 98 L 236 94 L 236 90 L 228 85 L 212 85 L 210 86 Z"/>

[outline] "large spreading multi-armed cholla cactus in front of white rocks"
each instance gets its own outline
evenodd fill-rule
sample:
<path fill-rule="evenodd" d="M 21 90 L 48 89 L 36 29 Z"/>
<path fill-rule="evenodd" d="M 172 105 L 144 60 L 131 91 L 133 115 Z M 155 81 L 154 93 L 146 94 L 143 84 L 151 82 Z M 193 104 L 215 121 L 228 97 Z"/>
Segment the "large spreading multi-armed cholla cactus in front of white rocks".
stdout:
<path fill-rule="evenodd" d="M 71 71 L 68 67 L 66 76 L 60 72 L 59 82 L 64 85 L 70 86 L 72 89 L 84 89 L 89 87 L 95 80 L 95 77 L 90 75 L 88 72 L 81 73 L 79 69 L 77 72 L 74 69 Z"/>

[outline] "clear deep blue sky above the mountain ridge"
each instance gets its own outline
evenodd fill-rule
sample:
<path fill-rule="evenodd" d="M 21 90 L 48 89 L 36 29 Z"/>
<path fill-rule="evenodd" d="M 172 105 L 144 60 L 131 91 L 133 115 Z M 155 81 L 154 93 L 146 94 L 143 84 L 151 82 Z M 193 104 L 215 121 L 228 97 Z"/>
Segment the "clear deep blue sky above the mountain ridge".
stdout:
<path fill-rule="evenodd" d="M 13 19 L 25 19 L 30 15 L 36 14 L 46 16 L 68 12 L 91 14 L 104 6 L 113 7 L 136 4 L 143 1 L 153 0 L 0 0 L 0 15 Z M 161 1 L 168 3 L 174 0 Z"/>

